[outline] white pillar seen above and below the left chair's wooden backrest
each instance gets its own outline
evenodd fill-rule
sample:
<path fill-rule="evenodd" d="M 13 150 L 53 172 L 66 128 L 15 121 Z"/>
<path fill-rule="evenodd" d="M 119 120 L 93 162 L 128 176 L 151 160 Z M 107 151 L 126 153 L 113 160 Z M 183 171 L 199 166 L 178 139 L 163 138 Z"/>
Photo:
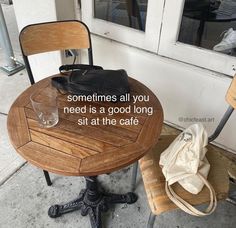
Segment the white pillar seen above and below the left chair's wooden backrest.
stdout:
<path fill-rule="evenodd" d="M 29 24 L 75 18 L 74 0 L 13 0 L 19 31 Z M 58 73 L 61 53 L 51 52 L 29 58 L 35 81 Z"/>

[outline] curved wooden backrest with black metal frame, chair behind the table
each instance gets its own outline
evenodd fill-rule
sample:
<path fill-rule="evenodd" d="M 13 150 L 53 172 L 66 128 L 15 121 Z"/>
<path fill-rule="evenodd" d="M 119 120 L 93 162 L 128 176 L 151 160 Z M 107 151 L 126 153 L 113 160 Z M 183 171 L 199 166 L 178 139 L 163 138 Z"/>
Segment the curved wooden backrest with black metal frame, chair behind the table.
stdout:
<path fill-rule="evenodd" d="M 19 36 L 23 59 L 34 84 L 28 56 L 69 49 L 87 49 L 89 64 L 93 65 L 92 45 L 88 27 L 80 21 L 56 21 L 24 27 Z"/>

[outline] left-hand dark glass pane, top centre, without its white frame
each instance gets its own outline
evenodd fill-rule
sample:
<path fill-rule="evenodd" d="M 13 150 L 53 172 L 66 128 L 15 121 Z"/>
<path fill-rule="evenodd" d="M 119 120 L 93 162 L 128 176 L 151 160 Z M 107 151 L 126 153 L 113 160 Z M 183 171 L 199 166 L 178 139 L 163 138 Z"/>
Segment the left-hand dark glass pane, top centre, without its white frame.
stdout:
<path fill-rule="evenodd" d="M 94 0 L 94 17 L 145 31 L 148 0 Z"/>

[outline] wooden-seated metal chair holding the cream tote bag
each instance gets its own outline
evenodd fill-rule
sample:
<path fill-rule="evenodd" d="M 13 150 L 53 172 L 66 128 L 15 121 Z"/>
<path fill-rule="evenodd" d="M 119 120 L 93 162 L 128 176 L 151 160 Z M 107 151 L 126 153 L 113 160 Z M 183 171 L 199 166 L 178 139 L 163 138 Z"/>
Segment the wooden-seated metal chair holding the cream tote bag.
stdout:
<path fill-rule="evenodd" d="M 235 98 L 236 77 L 234 77 L 226 95 L 226 101 L 229 103 L 229 107 L 222 117 L 215 132 L 209 137 L 209 142 L 212 142 L 217 138 L 232 112 L 236 108 Z M 144 187 L 146 190 L 149 206 L 151 208 L 147 225 L 148 228 L 153 227 L 157 215 L 177 208 L 177 206 L 172 201 L 170 201 L 166 195 L 165 177 L 163 176 L 162 170 L 159 167 L 161 152 L 163 152 L 175 138 L 176 135 L 162 135 L 155 148 L 153 148 L 139 161 Z M 215 189 L 217 200 L 227 199 L 228 201 L 235 203 L 235 198 L 230 198 L 229 195 L 229 183 L 230 180 L 230 184 L 235 185 L 236 183 L 234 180 L 236 176 L 236 159 L 234 161 L 230 160 L 222 154 L 221 149 L 210 144 L 208 145 L 208 152 L 206 156 L 209 163 L 211 164 L 208 180 Z M 203 190 L 197 195 L 190 194 L 178 183 L 174 184 L 173 188 L 181 198 L 190 204 L 200 205 L 207 203 L 209 200 L 209 193 L 206 187 L 204 187 Z"/>

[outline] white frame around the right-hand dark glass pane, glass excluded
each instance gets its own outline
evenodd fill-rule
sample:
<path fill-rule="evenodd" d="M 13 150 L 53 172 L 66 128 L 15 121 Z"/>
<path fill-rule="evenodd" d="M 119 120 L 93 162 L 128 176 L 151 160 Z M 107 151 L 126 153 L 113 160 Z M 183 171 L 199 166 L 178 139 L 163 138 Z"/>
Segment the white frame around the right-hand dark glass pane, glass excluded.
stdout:
<path fill-rule="evenodd" d="M 166 0 L 158 54 L 205 69 L 235 74 L 236 58 L 178 41 L 185 0 Z"/>

